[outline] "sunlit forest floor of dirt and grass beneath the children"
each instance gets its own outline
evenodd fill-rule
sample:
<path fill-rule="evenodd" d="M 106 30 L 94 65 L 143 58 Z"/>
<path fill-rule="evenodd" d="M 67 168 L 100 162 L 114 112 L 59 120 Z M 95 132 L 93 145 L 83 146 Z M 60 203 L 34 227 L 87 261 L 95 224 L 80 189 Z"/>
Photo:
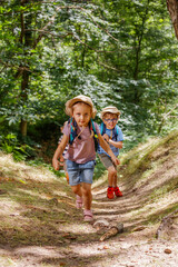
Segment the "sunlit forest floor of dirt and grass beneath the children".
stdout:
<path fill-rule="evenodd" d="M 93 182 L 93 224 L 63 177 L 0 154 L 0 267 L 177 267 L 177 144 L 174 132 L 126 155 L 120 198 L 107 199 L 107 174 Z M 119 222 L 123 233 L 100 241 Z"/>

